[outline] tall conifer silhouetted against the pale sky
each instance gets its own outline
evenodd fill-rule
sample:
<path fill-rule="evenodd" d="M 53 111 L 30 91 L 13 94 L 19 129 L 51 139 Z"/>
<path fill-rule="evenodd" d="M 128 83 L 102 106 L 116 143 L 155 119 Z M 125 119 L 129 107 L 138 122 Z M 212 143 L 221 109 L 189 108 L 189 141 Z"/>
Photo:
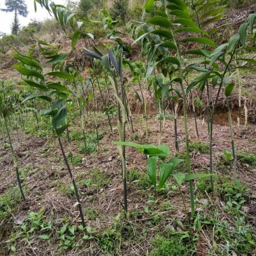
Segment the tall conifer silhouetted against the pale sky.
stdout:
<path fill-rule="evenodd" d="M 17 15 L 21 15 L 23 17 L 27 17 L 27 4 L 24 3 L 24 0 L 6 0 L 5 1 L 6 8 L 1 9 L 6 13 L 15 13 L 13 24 L 11 25 L 12 34 L 17 35 L 18 31 L 20 31 L 20 22 Z"/>

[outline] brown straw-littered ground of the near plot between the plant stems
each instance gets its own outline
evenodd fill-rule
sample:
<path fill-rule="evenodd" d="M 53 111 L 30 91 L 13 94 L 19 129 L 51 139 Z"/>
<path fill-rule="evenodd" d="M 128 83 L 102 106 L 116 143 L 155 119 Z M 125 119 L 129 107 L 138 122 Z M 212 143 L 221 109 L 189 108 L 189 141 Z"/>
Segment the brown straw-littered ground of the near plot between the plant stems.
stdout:
<path fill-rule="evenodd" d="M 149 117 L 149 142 L 157 145 L 159 141 L 159 126 L 155 115 Z M 231 143 L 229 137 L 229 127 L 227 126 L 227 113 L 218 113 L 215 117 L 215 125 L 213 128 L 214 138 L 214 171 L 215 173 L 223 173 L 223 170 L 218 166 L 219 162 L 223 162 L 222 150 L 231 150 Z M 132 135 L 131 127 L 129 126 L 127 131 L 127 141 L 136 141 L 137 143 L 145 143 L 145 128 L 141 123 L 141 115 L 134 115 L 134 130 L 135 134 Z M 194 135 L 194 120 L 189 118 L 189 134 L 190 141 L 197 141 Z M 206 120 L 197 119 L 197 125 L 199 128 L 199 141 L 208 144 L 208 134 Z M 256 125 L 250 124 L 247 129 L 236 127 L 234 122 L 234 142 L 237 152 L 256 152 Z M 91 123 L 87 128 L 93 128 Z M 99 151 L 88 156 L 87 164 L 85 158 L 83 162 L 77 166 L 73 166 L 73 173 L 76 180 L 87 179 L 95 177 L 92 175 L 94 170 L 99 170 L 101 177 L 106 180 L 106 183 L 101 181 L 99 187 L 80 186 L 81 201 L 83 205 L 83 211 L 86 208 L 94 208 L 97 212 L 97 218 L 94 220 L 87 219 L 87 225 L 90 225 L 96 232 L 102 232 L 108 230 L 113 225 L 113 218 L 122 212 L 122 176 L 120 157 L 115 145 L 112 141 L 118 141 L 118 131 L 114 129 L 113 132 L 108 128 L 106 118 L 99 119 L 99 129 L 104 132 L 104 137 L 99 142 Z M 71 128 L 76 129 L 75 127 Z M 55 219 L 69 217 L 73 225 L 80 225 L 78 209 L 74 204 L 76 199 L 74 195 L 65 194 L 63 191 L 59 191 L 59 183 L 55 180 L 61 180 L 63 184 L 70 187 L 71 181 L 69 173 L 66 170 L 66 166 L 62 161 L 61 151 L 55 145 L 52 138 L 36 137 L 28 134 L 24 134 L 23 131 L 19 131 L 19 139 L 15 132 L 13 133 L 13 143 L 15 152 L 19 159 L 19 168 L 24 170 L 24 182 L 23 187 L 26 187 L 27 201 L 18 204 L 15 211 L 12 213 L 13 219 L 8 222 L 3 221 L 0 223 L 1 235 L 0 235 L 0 255 L 9 255 L 5 241 L 10 239 L 10 232 L 17 230 L 17 224 L 15 224 L 15 218 L 24 220 L 28 211 L 38 212 L 43 209 L 43 214 L 48 220 L 52 218 L 52 212 L 54 212 Z M 136 138 L 136 140 L 135 140 Z M 180 152 L 185 152 L 185 134 L 183 131 L 183 118 L 178 118 L 178 141 L 180 145 Z M 3 143 L 7 143 L 6 138 L 1 138 L 1 162 L 0 162 L 0 194 L 4 194 L 10 185 L 15 185 L 15 171 L 13 170 L 13 161 L 11 159 L 10 150 L 3 148 Z M 176 150 L 174 147 L 174 133 L 173 133 L 173 121 L 166 120 L 164 129 L 162 132 L 162 143 L 170 146 L 171 153 L 175 155 Z M 47 150 L 52 148 L 52 150 Z M 68 146 L 65 143 L 66 152 Z M 79 150 L 76 143 L 71 143 L 73 152 Z M 46 154 L 42 156 L 41 152 Z M 209 157 L 208 154 L 202 154 L 200 152 L 191 152 L 192 158 L 192 171 L 201 172 L 208 169 Z M 147 157 L 142 153 L 138 153 L 135 148 L 127 148 L 127 170 L 128 173 L 131 170 L 137 170 L 140 173 L 146 173 Z M 238 161 L 238 176 L 243 183 L 246 183 L 250 187 L 251 197 L 248 200 L 246 207 L 248 207 L 248 213 L 255 213 L 256 209 L 256 176 L 255 172 L 252 172 L 252 166 L 246 166 L 246 164 Z M 180 170 L 186 172 L 186 169 Z M 233 176 L 232 167 L 227 166 L 225 168 L 225 174 Z M 169 180 L 169 183 L 173 183 L 173 180 Z M 187 208 L 190 208 L 189 191 L 187 185 L 183 185 L 182 192 L 185 194 Z M 154 195 L 155 201 L 151 200 L 151 195 Z M 206 197 L 207 198 L 207 197 Z M 212 199 L 211 199 L 212 198 Z M 163 232 L 165 227 L 173 226 L 176 228 L 172 220 L 184 220 L 184 209 L 180 201 L 178 191 L 171 192 L 159 192 L 155 194 L 154 190 L 148 185 L 146 190 L 143 190 L 138 183 L 128 184 L 128 207 L 129 212 L 136 213 L 136 218 L 131 217 L 129 225 L 133 227 L 134 237 L 138 237 L 135 243 L 132 239 L 127 239 L 120 250 L 122 255 L 148 255 L 148 251 L 152 247 L 150 239 L 155 236 L 157 232 Z M 229 216 L 222 211 L 222 200 L 220 198 L 213 197 L 209 194 L 207 200 L 213 200 L 212 203 L 216 208 L 222 212 L 222 218 L 228 219 Z M 161 205 L 169 201 L 173 208 L 169 211 L 161 211 Z M 148 225 L 149 221 L 154 219 L 156 214 L 154 211 L 151 213 L 145 213 L 145 206 L 156 209 L 157 215 L 162 217 L 161 229 L 154 225 Z M 201 207 L 200 201 L 197 203 L 197 208 Z M 158 210 L 157 210 L 158 209 Z M 139 214 L 138 214 L 139 213 Z M 255 217 L 250 215 L 248 220 L 253 223 L 255 227 Z M 143 230 L 146 229 L 147 235 L 142 236 Z M 200 245 L 198 246 L 197 255 L 205 255 L 206 248 L 211 246 L 208 244 L 208 234 L 200 234 Z M 18 250 L 18 255 L 57 255 L 58 241 L 48 244 L 45 241 L 36 240 L 32 242 L 31 246 L 24 246 L 24 242 L 17 243 L 15 246 Z M 71 250 L 64 251 L 62 255 L 101 255 L 101 248 L 97 243 L 87 242 L 83 248 L 73 248 Z M 255 252 L 256 253 L 256 252 Z M 105 255 L 105 254 L 102 254 Z M 255 254 L 254 254 L 255 255 Z"/>

